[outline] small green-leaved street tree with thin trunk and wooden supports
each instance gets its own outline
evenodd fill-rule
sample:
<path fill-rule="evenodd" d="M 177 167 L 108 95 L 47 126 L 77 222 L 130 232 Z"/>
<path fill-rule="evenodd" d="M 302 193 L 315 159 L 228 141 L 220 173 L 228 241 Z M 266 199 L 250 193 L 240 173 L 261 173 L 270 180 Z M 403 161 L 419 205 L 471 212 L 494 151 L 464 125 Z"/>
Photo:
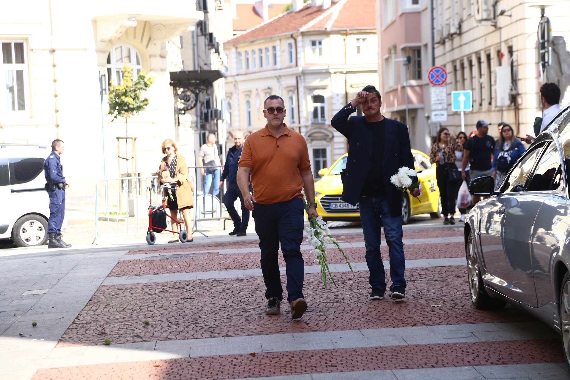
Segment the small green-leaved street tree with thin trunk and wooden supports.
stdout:
<path fill-rule="evenodd" d="M 144 70 L 133 80 L 133 68 L 125 64 L 123 66 L 123 83 L 111 83 L 111 86 L 109 86 L 109 112 L 107 114 L 113 115 L 113 120 L 117 119 L 117 117 L 125 118 L 125 156 L 127 156 L 128 152 L 129 136 L 127 121 L 132 115 L 139 115 L 140 112 L 145 110 L 150 100 L 148 97 L 143 97 L 142 94 L 153 82 L 154 77 L 147 76 Z M 136 156 L 136 152 L 133 150 L 131 158 L 121 157 L 120 152 L 117 153 L 119 156 L 120 172 L 120 160 L 129 161 L 133 156 Z M 136 167 L 133 168 L 133 170 L 136 171 Z M 128 173 L 129 169 L 127 165 L 127 175 Z M 129 192 L 128 189 L 127 192 Z"/>

